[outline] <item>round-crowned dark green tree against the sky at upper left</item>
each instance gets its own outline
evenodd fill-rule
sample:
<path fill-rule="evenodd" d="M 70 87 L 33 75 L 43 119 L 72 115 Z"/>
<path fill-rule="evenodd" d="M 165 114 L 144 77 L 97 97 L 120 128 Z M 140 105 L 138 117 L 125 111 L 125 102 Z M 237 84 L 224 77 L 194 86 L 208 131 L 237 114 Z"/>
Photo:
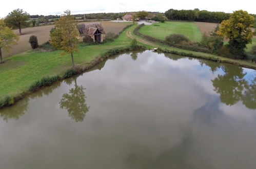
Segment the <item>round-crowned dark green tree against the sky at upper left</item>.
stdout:
<path fill-rule="evenodd" d="M 22 9 L 14 9 L 5 18 L 5 23 L 8 27 L 19 29 L 19 34 L 22 34 L 22 27 L 27 26 L 29 23 L 26 20 L 29 18 L 29 14 Z"/>

